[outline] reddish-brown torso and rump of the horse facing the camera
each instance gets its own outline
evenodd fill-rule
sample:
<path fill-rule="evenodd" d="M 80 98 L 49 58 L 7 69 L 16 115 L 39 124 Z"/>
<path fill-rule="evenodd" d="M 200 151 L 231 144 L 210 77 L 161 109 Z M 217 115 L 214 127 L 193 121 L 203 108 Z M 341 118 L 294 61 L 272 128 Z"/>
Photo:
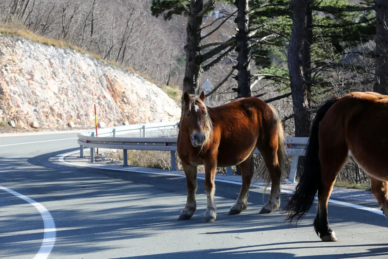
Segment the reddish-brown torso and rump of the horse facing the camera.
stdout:
<path fill-rule="evenodd" d="M 258 139 L 267 139 L 277 130 L 271 108 L 257 97 L 240 98 L 210 110 L 213 133 L 218 136 L 220 166 L 244 161 L 256 148 Z"/>

